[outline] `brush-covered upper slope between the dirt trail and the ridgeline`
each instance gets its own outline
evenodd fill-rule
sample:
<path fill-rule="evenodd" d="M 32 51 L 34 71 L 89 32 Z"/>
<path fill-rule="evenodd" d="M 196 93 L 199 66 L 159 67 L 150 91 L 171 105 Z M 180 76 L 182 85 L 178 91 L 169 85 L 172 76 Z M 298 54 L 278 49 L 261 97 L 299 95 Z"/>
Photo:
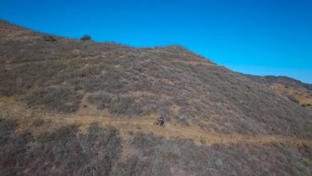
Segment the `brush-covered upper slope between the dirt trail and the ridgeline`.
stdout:
<path fill-rule="evenodd" d="M 0 26 L 6 36 L 18 31 L 3 21 Z M 24 34 L 0 41 L 0 91 L 29 107 L 162 114 L 181 126 L 218 133 L 285 134 L 290 126 L 288 134 L 312 136 L 310 111 L 184 47 L 133 48 L 62 37 L 49 42 L 42 33 Z"/>

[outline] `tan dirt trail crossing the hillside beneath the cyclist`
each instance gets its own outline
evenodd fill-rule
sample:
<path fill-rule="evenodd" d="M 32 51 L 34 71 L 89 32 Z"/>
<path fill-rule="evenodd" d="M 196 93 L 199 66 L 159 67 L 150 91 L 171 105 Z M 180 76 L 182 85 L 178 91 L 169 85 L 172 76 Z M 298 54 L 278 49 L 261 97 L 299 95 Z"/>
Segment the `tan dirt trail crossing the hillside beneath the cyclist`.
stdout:
<path fill-rule="evenodd" d="M 24 117 L 43 118 L 46 120 L 54 121 L 56 124 L 72 124 L 78 122 L 82 124 L 81 130 L 86 131 L 92 122 L 100 122 L 103 126 L 114 126 L 119 129 L 120 133 L 124 136 L 131 135 L 133 132 L 141 131 L 144 133 L 153 132 L 155 134 L 170 137 L 183 137 L 192 140 L 194 143 L 200 145 L 200 139 L 204 139 L 207 145 L 223 143 L 270 143 L 275 142 L 288 142 L 293 144 L 312 144 L 312 140 L 299 139 L 297 137 L 282 136 L 282 135 L 250 135 L 250 134 L 220 134 L 215 132 L 208 132 L 201 130 L 196 126 L 183 127 L 174 122 L 166 122 L 166 127 L 162 128 L 154 126 L 153 121 L 157 118 L 150 117 L 122 117 L 122 116 L 104 116 L 104 115 L 76 115 L 76 114 L 57 114 L 47 113 L 45 111 L 31 111 L 22 104 L 14 100 L 3 101 L 0 98 L 0 108 L 11 114 L 22 114 Z M 34 113 L 35 112 L 35 113 Z M 3 112 L 0 114 L 3 115 Z M 35 114 L 35 115 L 34 115 Z M 51 127 L 52 128 L 52 127 Z"/>

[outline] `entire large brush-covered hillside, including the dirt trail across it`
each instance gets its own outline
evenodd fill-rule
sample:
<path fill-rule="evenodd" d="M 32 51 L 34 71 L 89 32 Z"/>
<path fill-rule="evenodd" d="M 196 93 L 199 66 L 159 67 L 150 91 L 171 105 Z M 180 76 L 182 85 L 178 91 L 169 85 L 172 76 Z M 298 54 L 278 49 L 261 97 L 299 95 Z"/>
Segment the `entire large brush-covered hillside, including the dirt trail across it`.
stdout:
<path fill-rule="evenodd" d="M 1 174 L 312 173 L 312 111 L 182 46 L 0 21 L 0 47 Z"/>

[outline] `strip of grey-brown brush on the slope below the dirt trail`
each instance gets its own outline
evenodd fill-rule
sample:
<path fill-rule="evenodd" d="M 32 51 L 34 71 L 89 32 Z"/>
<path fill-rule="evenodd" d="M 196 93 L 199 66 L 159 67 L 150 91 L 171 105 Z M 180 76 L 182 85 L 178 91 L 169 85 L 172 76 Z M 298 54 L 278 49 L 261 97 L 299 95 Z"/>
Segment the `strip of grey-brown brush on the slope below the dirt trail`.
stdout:
<path fill-rule="evenodd" d="M 47 126 L 33 122 L 33 126 Z M 136 132 L 122 139 L 97 122 L 85 134 L 67 125 L 33 134 L 0 122 L 0 175 L 310 175 L 309 145 L 216 144 Z M 124 142 L 123 142 L 124 141 Z M 124 145 L 125 144 L 125 145 Z M 129 146 L 126 148 L 126 146 Z"/>

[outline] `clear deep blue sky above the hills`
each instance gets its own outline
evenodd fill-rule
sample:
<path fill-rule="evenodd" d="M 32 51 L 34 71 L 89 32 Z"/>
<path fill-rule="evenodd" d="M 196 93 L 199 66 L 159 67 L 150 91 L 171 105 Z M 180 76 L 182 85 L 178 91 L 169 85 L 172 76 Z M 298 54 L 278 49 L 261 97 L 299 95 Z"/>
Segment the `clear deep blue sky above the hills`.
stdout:
<path fill-rule="evenodd" d="M 312 83 L 312 1 L 2 0 L 0 18 L 59 36 L 179 44 L 234 71 Z"/>

